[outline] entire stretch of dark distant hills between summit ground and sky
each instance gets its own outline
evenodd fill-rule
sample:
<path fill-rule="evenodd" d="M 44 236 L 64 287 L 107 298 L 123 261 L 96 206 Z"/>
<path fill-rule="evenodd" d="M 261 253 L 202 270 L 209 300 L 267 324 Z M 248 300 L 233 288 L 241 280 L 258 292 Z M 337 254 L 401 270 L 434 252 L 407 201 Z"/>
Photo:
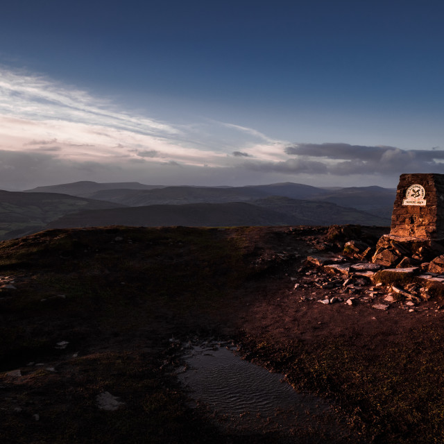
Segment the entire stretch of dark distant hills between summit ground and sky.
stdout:
<path fill-rule="evenodd" d="M 390 225 L 395 189 L 318 188 L 285 182 L 246 187 L 166 187 L 74 182 L 0 191 L 0 239 L 44 228 L 105 225 Z"/>

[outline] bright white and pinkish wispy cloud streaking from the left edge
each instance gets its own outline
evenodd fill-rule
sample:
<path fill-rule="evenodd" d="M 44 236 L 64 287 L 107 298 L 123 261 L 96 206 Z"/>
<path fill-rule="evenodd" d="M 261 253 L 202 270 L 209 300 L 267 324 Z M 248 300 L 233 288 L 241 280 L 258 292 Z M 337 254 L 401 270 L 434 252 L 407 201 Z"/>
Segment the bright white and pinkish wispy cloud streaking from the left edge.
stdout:
<path fill-rule="evenodd" d="M 116 103 L 50 78 L 0 67 L 0 149 L 52 152 L 61 162 L 100 162 L 120 169 L 134 162 L 234 167 L 234 152 L 279 160 L 284 144 L 242 126 L 216 121 L 189 125 L 119 109 Z"/>

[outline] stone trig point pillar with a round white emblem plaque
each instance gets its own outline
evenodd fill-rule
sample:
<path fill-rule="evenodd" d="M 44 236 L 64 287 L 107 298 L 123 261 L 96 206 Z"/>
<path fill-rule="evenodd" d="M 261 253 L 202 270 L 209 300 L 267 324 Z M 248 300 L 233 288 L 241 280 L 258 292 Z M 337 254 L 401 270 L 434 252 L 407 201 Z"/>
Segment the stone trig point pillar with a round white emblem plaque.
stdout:
<path fill-rule="evenodd" d="M 444 239 L 444 174 L 401 174 L 390 234 Z"/>

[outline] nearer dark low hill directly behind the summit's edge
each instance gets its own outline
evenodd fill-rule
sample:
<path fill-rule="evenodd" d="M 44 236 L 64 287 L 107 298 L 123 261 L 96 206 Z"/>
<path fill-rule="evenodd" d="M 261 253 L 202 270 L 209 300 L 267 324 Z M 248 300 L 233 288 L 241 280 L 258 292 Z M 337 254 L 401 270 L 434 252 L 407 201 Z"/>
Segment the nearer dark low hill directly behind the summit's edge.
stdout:
<path fill-rule="evenodd" d="M 333 203 L 289 198 L 265 198 L 253 203 L 194 203 L 148 205 L 117 210 L 94 210 L 66 214 L 46 228 L 76 228 L 107 225 L 157 227 L 239 225 L 332 225 L 334 223 L 387 225 L 385 219 Z"/>

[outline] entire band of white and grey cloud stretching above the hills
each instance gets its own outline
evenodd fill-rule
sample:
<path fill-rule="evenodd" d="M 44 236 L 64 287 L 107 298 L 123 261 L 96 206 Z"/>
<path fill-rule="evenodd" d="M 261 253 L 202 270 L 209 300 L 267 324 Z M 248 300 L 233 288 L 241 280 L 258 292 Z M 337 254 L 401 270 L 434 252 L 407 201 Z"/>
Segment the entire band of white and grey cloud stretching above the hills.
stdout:
<path fill-rule="evenodd" d="M 400 173 L 443 172 L 444 151 L 436 146 L 290 144 L 234 123 L 176 124 L 121 108 L 49 78 L 0 68 L 0 188 L 76 180 L 350 185 L 364 177 L 368 185 L 393 186 Z"/>

